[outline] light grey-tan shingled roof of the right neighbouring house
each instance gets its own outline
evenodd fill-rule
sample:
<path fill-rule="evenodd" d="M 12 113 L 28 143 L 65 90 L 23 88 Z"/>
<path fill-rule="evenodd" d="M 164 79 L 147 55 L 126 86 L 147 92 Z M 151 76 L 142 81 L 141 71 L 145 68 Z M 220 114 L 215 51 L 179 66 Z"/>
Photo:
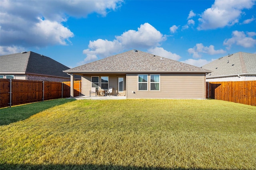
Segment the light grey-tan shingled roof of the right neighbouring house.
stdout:
<path fill-rule="evenodd" d="M 205 64 L 202 68 L 212 70 L 206 78 L 256 75 L 256 54 L 243 52 L 230 54 Z"/>

